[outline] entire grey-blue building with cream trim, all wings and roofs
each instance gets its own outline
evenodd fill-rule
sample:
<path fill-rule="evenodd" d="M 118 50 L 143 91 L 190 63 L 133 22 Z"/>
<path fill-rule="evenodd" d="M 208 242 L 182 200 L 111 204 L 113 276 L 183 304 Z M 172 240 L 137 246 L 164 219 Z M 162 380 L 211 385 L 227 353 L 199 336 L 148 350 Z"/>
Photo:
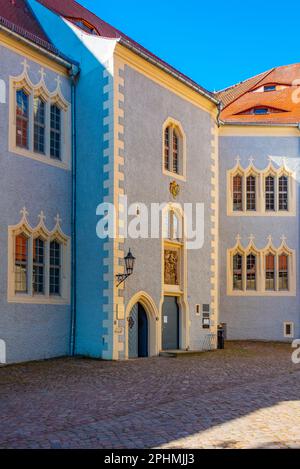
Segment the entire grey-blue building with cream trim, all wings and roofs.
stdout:
<path fill-rule="evenodd" d="M 72 0 L 0 16 L 5 362 L 297 336 L 297 109 L 261 103 L 283 78 L 209 93 Z"/>

